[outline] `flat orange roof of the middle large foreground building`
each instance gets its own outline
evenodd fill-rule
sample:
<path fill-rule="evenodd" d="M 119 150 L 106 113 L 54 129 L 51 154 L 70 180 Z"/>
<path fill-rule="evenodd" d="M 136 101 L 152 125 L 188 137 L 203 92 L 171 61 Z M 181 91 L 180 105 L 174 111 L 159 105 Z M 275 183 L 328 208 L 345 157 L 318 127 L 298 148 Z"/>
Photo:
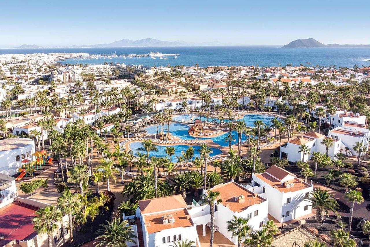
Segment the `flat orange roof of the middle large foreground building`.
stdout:
<path fill-rule="evenodd" d="M 244 186 L 239 185 L 235 182 L 228 182 L 221 185 L 216 185 L 210 190 L 219 191 L 220 198 L 222 199 L 222 204 L 225 207 L 228 207 L 232 212 L 242 212 L 253 204 L 265 202 L 265 199 L 253 194 Z M 240 195 L 244 196 L 244 201 L 235 201 L 235 197 L 238 197 Z"/>

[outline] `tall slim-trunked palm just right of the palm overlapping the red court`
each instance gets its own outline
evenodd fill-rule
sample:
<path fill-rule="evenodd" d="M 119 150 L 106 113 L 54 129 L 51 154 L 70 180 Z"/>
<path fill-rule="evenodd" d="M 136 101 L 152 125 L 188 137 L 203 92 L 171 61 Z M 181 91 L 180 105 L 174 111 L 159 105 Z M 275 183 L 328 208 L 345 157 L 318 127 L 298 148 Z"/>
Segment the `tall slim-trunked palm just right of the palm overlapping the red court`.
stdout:
<path fill-rule="evenodd" d="M 73 242 L 73 220 L 72 214 L 80 210 L 77 194 L 72 194 L 70 190 L 64 190 L 61 197 L 58 198 L 58 208 L 63 214 L 68 214 L 69 229 L 71 234 L 71 245 Z"/>

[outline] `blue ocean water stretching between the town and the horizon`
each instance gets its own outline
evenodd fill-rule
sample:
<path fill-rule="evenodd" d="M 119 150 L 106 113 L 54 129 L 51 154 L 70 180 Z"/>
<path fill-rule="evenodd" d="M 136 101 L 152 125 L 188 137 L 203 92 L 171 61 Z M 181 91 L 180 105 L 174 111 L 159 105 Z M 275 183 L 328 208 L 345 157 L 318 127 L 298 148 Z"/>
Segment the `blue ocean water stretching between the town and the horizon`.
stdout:
<path fill-rule="evenodd" d="M 203 46 L 203 47 L 112 47 L 112 48 L 41 48 L 41 49 L 0 49 L 0 54 L 12 53 L 89 53 L 89 54 L 147 54 L 149 52 L 178 53 L 177 59 L 167 57 L 132 57 L 124 59 L 68 59 L 61 63 L 102 64 L 104 62 L 143 64 L 147 66 L 186 65 L 198 63 L 206 66 L 233 65 L 336 65 L 350 67 L 354 64 L 370 65 L 370 47 L 361 48 L 282 48 L 280 46 Z"/>

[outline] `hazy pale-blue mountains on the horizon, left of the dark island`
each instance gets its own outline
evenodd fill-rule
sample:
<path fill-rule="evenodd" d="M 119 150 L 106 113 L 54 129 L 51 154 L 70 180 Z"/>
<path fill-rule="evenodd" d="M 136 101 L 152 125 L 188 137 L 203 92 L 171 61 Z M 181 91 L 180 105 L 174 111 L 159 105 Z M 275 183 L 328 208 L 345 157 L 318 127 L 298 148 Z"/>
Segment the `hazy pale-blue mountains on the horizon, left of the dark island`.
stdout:
<path fill-rule="evenodd" d="M 162 41 L 154 38 L 143 38 L 141 40 L 129 40 L 127 38 L 123 40 L 114 41 L 106 44 L 95 44 L 95 45 L 72 45 L 64 48 L 84 48 L 84 47 L 166 47 L 166 46 L 203 46 L 203 45 L 225 45 L 217 41 L 213 42 L 202 42 L 202 43 L 191 43 L 185 41 Z M 15 48 L 51 48 L 42 47 L 38 45 L 21 45 Z"/>

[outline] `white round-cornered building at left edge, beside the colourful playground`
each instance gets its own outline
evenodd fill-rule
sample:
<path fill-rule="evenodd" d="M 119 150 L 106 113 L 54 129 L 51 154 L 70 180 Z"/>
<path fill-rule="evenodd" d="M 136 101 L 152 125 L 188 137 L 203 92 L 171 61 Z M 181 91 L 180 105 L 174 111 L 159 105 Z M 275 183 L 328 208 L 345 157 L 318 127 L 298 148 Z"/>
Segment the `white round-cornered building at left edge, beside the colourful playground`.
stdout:
<path fill-rule="evenodd" d="M 0 173 L 13 176 L 19 172 L 21 161 L 33 160 L 35 142 L 28 138 L 9 138 L 0 140 Z"/>

